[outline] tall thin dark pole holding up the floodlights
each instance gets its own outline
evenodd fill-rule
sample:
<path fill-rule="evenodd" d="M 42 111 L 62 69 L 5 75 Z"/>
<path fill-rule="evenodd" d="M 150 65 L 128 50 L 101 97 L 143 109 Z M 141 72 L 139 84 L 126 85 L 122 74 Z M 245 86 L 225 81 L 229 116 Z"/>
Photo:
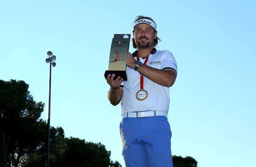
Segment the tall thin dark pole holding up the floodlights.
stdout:
<path fill-rule="evenodd" d="M 49 155 L 50 155 L 50 112 L 51 112 L 51 77 L 52 77 L 52 62 L 50 62 L 50 75 L 49 75 L 49 101 L 48 101 L 48 119 L 47 119 L 47 152 L 46 152 L 46 167 L 49 167 Z"/>

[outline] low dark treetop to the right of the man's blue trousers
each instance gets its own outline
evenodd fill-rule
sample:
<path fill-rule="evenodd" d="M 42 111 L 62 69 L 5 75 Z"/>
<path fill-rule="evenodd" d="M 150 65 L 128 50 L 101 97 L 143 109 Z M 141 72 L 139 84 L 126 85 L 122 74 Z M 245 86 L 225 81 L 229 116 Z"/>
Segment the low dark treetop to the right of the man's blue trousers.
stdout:
<path fill-rule="evenodd" d="M 197 167 L 197 161 L 192 157 L 181 157 L 172 155 L 172 161 L 174 167 Z"/>

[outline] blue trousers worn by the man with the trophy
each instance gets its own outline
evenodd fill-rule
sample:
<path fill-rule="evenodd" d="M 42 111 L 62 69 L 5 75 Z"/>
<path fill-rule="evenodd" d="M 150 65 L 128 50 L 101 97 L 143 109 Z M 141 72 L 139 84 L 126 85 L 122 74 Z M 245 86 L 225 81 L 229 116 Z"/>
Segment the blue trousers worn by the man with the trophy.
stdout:
<path fill-rule="evenodd" d="M 173 167 L 166 117 L 123 118 L 120 135 L 126 167 Z"/>

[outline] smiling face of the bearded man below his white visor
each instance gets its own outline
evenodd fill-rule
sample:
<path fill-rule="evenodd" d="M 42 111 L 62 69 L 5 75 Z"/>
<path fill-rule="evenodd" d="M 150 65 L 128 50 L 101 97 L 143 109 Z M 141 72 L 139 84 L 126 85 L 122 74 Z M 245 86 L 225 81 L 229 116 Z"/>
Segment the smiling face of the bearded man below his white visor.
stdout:
<path fill-rule="evenodd" d="M 153 46 L 157 32 L 154 32 L 149 24 L 139 24 L 133 32 L 135 43 L 138 48 L 149 48 Z"/>

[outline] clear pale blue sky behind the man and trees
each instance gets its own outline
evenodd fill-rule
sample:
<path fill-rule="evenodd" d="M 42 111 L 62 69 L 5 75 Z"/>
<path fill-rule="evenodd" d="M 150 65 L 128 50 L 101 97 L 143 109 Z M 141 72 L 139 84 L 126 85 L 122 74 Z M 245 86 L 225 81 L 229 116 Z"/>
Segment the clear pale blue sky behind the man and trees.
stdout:
<path fill-rule="evenodd" d="M 52 51 L 51 125 L 101 142 L 124 167 L 121 108 L 109 103 L 103 75 L 114 34 L 132 34 L 135 17 L 150 16 L 162 39 L 156 49 L 178 64 L 168 113 L 172 154 L 199 167 L 253 167 L 255 8 L 253 0 L 0 1 L 0 79 L 28 83 L 47 119 Z"/>

